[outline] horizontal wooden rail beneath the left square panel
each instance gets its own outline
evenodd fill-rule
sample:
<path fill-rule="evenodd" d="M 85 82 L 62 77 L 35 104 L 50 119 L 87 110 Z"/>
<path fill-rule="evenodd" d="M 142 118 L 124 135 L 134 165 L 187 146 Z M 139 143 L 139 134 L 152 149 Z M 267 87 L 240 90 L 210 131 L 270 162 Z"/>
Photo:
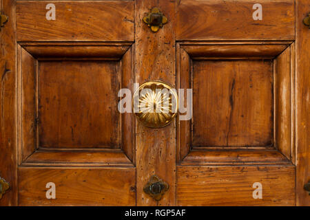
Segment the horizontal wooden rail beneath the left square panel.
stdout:
<path fill-rule="evenodd" d="M 19 206 L 134 206 L 135 182 L 134 168 L 19 168 Z"/>

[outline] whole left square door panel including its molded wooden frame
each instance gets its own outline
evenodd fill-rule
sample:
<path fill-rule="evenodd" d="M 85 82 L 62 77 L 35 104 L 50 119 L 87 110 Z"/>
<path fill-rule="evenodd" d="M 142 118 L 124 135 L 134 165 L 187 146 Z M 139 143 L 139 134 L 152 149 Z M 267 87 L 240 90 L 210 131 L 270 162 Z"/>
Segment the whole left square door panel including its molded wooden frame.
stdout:
<path fill-rule="evenodd" d="M 57 149 L 74 162 L 81 160 L 70 153 L 95 148 L 132 159 L 132 115 L 117 109 L 121 85 L 132 87 L 130 45 L 35 45 L 19 47 L 21 162 L 45 158 L 37 150 L 56 155 Z M 45 159 L 63 162 L 52 155 Z"/>

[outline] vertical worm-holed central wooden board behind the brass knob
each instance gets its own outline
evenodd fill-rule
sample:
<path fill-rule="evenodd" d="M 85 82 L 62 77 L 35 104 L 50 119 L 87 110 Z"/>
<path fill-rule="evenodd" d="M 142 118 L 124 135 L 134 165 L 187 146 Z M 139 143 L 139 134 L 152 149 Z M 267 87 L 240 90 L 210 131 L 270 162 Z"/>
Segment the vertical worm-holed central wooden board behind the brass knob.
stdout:
<path fill-rule="evenodd" d="M 136 82 L 162 80 L 175 87 L 174 1 L 137 0 L 136 2 Z M 161 9 L 168 19 L 163 28 L 153 33 L 142 19 L 153 7 Z M 162 129 L 149 129 L 136 122 L 136 171 L 138 206 L 175 205 L 176 135 L 175 122 Z M 158 175 L 169 184 L 161 201 L 143 192 L 149 177 Z"/>

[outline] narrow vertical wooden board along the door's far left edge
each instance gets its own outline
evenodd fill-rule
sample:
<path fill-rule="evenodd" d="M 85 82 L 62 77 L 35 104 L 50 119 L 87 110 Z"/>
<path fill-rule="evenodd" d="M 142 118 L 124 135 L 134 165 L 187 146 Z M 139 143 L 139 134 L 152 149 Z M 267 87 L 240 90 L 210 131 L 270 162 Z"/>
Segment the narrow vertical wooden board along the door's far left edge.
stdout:
<path fill-rule="evenodd" d="M 0 199 L 0 206 L 17 205 L 16 138 L 16 34 L 15 1 L 1 0 L 1 13 L 10 19 L 1 28 L 0 45 L 0 176 L 10 183 L 10 190 Z"/>

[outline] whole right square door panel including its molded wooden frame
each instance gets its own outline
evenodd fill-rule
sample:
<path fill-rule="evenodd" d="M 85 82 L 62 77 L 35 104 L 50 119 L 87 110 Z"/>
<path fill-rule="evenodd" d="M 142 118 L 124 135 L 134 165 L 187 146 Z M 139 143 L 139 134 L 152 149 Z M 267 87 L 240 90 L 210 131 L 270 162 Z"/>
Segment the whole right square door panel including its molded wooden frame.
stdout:
<path fill-rule="evenodd" d="M 295 148 L 288 135 L 293 132 L 293 122 L 288 103 L 293 101 L 294 45 L 270 44 L 265 50 L 260 43 L 242 47 L 242 42 L 227 42 L 230 49 L 223 50 L 217 43 L 187 44 L 178 45 L 178 87 L 193 89 L 193 118 L 180 121 L 178 126 L 180 159 L 191 148 L 221 149 L 219 158 L 233 158 L 234 151 L 245 149 L 255 153 L 255 158 L 259 151 L 269 149 L 278 150 L 279 159 L 282 153 L 293 159 Z M 255 50 L 255 46 L 260 49 Z M 256 53 L 249 53 L 252 49 Z M 228 147 L 231 151 L 223 151 Z M 250 157 L 251 151 L 245 151 L 239 159 Z"/>

